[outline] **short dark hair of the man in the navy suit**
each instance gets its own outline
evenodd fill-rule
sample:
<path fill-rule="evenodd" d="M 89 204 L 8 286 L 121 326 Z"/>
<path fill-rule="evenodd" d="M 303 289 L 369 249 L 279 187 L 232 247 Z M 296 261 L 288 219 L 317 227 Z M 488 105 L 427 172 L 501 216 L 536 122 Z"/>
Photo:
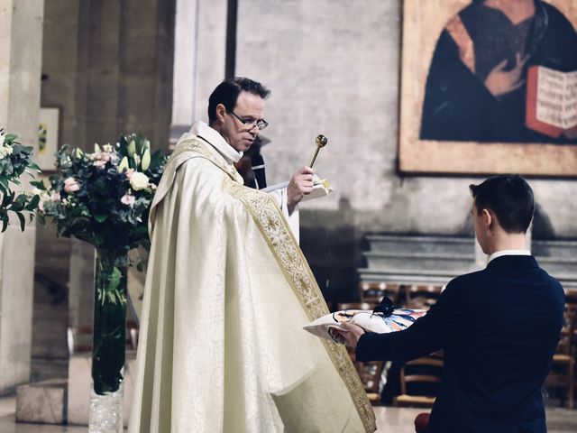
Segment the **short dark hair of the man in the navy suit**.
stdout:
<path fill-rule="evenodd" d="M 492 176 L 481 185 L 470 185 L 477 213 L 492 210 L 507 233 L 525 233 L 535 212 L 533 189 L 518 174 Z"/>

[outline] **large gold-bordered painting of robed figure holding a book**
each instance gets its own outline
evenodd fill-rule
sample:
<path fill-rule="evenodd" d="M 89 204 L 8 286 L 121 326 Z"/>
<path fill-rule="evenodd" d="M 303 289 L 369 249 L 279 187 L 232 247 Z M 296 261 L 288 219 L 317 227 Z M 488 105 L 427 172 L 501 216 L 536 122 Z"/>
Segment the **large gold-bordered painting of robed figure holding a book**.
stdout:
<path fill-rule="evenodd" d="M 577 176 L 577 2 L 403 8 L 400 172 Z"/>

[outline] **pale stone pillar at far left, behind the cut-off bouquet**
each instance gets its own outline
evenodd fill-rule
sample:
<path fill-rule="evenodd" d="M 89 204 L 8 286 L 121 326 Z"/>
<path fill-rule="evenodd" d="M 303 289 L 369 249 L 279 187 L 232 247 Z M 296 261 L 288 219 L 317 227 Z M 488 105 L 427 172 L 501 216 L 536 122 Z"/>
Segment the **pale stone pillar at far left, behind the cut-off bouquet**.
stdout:
<path fill-rule="evenodd" d="M 38 140 L 43 0 L 0 0 L 0 125 Z M 32 343 L 35 226 L 0 235 L 0 394 L 28 382 Z"/>

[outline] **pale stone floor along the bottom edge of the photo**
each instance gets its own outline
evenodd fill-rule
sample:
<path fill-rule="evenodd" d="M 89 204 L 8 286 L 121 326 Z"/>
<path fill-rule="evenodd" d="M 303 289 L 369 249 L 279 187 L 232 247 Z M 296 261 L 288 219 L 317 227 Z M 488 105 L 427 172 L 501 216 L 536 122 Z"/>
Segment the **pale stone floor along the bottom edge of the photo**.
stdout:
<path fill-rule="evenodd" d="M 413 433 L 413 420 L 421 409 L 375 407 L 377 432 Z M 14 421 L 14 396 L 0 398 L 0 433 L 87 433 L 88 428 L 78 426 L 49 426 L 22 424 Z M 577 431 L 577 410 L 547 408 L 549 433 L 574 433 Z"/>

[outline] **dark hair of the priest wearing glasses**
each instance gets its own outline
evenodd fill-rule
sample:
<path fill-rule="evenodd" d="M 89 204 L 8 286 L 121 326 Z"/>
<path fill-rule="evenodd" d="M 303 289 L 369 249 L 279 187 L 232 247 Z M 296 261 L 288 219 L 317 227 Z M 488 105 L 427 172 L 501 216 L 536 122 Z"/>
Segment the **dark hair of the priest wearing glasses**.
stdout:
<path fill-rule="evenodd" d="M 212 124 L 215 121 L 216 106 L 218 104 L 222 104 L 226 108 L 226 111 L 233 111 L 234 106 L 236 106 L 236 100 L 241 92 L 249 92 L 262 99 L 270 96 L 270 90 L 268 88 L 265 88 L 258 81 L 253 81 L 251 78 L 226 78 L 216 86 L 208 98 L 208 123 Z"/>

